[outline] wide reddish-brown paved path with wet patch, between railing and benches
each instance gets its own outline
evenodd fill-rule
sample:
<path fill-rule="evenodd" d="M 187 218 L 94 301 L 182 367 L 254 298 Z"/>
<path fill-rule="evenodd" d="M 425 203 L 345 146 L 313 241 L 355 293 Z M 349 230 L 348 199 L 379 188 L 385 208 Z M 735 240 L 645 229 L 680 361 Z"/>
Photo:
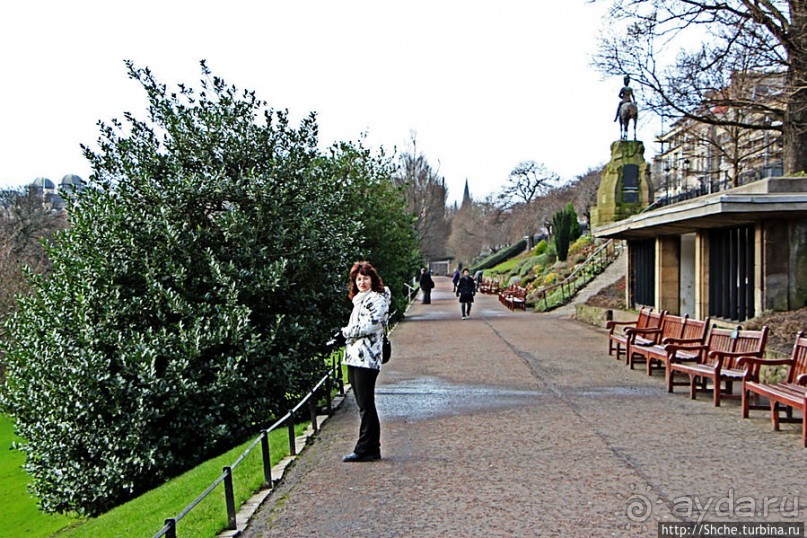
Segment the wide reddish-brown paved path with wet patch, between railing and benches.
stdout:
<path fill-rule="evenodd" d="M 436 282 L 432 304 L 396 328 L 379 377 L 382 459 L 342 463 L 358 430 L 349 395 L 244 536 L 658 536 L 659 521 L 804 522 L 795 425 L 775 433 L 765 412 L 742 419 L 736 402 L 667 394 L 660 374 L 608 357 L 603 330 L 565 316 L 477 295 L 463 321 L 451 282 Z"/>

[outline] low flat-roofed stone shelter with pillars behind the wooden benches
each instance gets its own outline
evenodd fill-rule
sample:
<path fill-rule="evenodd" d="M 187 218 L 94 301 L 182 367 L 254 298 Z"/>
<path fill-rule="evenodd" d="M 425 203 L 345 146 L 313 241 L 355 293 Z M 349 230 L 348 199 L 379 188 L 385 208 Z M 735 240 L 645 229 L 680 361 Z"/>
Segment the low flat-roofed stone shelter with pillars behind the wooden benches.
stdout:
<path fill-rule="evenodd" d="M 626 299 L 743 321 L 807 305 L 807 178 L 764 178 L 594 230 L 627 243 Z"/>

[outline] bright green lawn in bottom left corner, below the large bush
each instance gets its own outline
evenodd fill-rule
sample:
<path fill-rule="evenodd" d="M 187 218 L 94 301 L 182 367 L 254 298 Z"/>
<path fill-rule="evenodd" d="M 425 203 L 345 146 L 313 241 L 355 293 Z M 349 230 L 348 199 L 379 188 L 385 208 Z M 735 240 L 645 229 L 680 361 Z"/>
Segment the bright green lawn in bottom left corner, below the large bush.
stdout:
<path fill-rule="evenodd" d="M 0 415 L 0 537 L 50 536 L 75 520 L 39 511 L 36 499 L 26 489 L 28 475 L 21 467 L 25 454 L 11 447 L 15 441 L 19 439 L 14 435 L 14 424 Z"/>

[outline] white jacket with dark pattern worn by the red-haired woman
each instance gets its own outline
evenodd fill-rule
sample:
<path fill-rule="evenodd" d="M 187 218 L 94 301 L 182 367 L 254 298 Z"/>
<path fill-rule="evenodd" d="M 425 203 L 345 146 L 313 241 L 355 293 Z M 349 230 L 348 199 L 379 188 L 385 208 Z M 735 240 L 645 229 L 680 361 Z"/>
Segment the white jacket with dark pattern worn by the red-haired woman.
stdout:
<path fill-rule="evenodd" d="M 389 315 L 391 293 L 368 290 L 353 297 L 353 311 L 342 334 L 345 345 L 345 364 L 360 368 L 381 369 L 381 346 L 384 326 Z"/>

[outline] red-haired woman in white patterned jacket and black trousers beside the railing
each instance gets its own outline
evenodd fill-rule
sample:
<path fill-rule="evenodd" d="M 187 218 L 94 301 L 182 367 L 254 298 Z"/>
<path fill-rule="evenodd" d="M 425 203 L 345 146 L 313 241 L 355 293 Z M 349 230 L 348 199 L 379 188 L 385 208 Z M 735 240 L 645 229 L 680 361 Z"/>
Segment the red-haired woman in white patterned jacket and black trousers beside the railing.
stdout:
<path fill-rule="evenodd" d="M 345 345 L 347 378 L 359 406 L 361 426 L 353 452 L 342 461 L 381 458 L 381 424 L 375 408 L 375 382 L 381 371 L 381 346 L 389 313 L 390 291 L 369 262 L 350 269 L 353 311 L 347 327 L 336 333 L 337 345 Z"/>

